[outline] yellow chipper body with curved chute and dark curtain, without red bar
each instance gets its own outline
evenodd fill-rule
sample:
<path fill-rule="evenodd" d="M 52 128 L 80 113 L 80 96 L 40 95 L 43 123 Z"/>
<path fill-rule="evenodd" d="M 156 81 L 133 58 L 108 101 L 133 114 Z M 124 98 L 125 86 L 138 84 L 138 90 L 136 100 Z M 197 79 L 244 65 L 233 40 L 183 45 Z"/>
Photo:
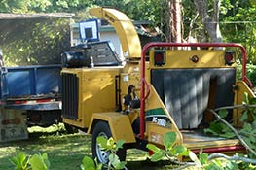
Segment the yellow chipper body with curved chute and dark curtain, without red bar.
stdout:
<path fill-rule="evenodd" d="M 73 88 L 77 88 L 77 102 L 72 100 L 73 103 L 70 103 L 77 108 L 70 109 L 70 112 L 75 111 L 75 116 L 64 115 L 63 121 L 88 129 L 88 133 L 92 133 L 98 121 L 105 121 L 109 124 L 115 141 L 124 139 L 127 144 L 136 143 L 139 134 L 135 131 L 139 131 L 140 126 L 134 123 L 139 119 L 140 109 L 129 108 L 126 112 L 122 100 L 128 94 L 130 85 L 137 97 L 141 98 L 140 41 L 133 24 L 123 13 L 106 8 L 91 9 L 90 13 L 107 19 L 114 26 L 123 51 L 128 52 L 128 62 L 125 66 L 117 67 L 64 68 L 63 76 L 71 75 L 72 79 L 77 80 L 77 85 L 73 85 Z M 165 55 L 162 63 L 157 58 L 158 52 Z M 149 61 L 145 64 L 146 82 L 149 84 L 146 91 L 149 91 L 149 95 L 145 100 L 145 137 L 142 140 L 163 146 L 165 133 L 174 131 L 177 133 L 176 144 L 183 144 L 191 150 L 225 148 L 239 144 L 237 139 L 225 140 L 198 135 L 205 124 L 214 119 L 206 110 L 225 105 L 226 99 L 222 100 L 222 97 L 225 98 L 226 94 L 234 96 L 227 100 L 227 104 L 231 105 L 242 104 L 244 92 L 254 97 L 248 85 L 237 80 L 237 65 L 227 64 L 225 54 L 225 50 L 171 48 L 156 48 L 149 52 Z M 69 77 L 67 82 L 68 80 Z M 169 90 L 168 85 L 174 85 L 176 89 Z M 63 92 L 66 90 L 69 89 L 63 87 Z M 70 96 L 66 97 L 72 95 L 71 91 Z M 172 96 L 176 96 L 176 99 L 171 98 Z M 171 104 L 168 104 L 169 101 Z M 183 110 L 182 107 L 188 109 Z M 194 115 L 198 115 L 192 109 L 200 112 L 198 120 L 193 120 Z M 231 119 L 235 120 L 234 125 L 237 127 L 241 125 L 238 120 L 240 115 L 239 110 L 232 112 Z M 201 124 L 202 120 L 204 124 Z"/>

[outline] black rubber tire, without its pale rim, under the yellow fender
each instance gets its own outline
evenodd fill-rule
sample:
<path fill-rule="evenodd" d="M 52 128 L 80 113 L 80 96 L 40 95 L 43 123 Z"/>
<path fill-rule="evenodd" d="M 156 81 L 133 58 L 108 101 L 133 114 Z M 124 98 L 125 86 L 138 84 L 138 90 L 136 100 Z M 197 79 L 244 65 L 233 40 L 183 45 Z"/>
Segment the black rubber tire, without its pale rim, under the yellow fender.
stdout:
<path fill-rule="evenodd" d="M 100 159 L 97 157 L 97 153 L 96 153 L 96 146 L 97 146 L 96 139 L 98 136 L 100 136 L 102 134 L 107 136 L 107 138 L 112 137 L 112 133 L 111 133 L 108 123 L 105 121 L 98 121 L 95 124 L 93 131 L 92 131 L 92 142 L 91 142 L 92 156 L 93 156 L 93 158 L 97 158 L 98 162 L 100 162 L 102 164 L 106 164 L 106 162 L 100 161 Z M 127 150 L 122 148 L 117 152 L 117 155 L 119 156 L 119 159 L 121 161 L 125 161 L 126 156 L 127 156 Z"/>

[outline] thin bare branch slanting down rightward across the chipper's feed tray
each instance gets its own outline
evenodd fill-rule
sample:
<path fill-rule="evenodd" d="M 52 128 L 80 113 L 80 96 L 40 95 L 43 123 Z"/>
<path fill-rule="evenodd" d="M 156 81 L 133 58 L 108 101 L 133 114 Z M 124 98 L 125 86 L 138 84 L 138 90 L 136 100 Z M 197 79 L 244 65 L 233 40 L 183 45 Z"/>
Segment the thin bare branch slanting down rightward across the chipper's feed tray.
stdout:
<path fill-rule="evenodd" d="M 247 106 L 248 107 L 248 106 Z M 226 107 L 227 108 L 227 107 Z M 216 109 L 220 110 L 220 109 Z M 238 140 L 241 142 L 241 144 L 250 152 L 253 153 L 256 156 L 256 153 L 246 144 L 246 142 L 242 139 L 242 137 L 238 134 L 238 131 L 225 119 L 222 119 L 213 109 L 208 109 L 209 112 L 211 112 L 217 119 L 219 119 L 221 122 L 226 124 L 238 137 Z"/>

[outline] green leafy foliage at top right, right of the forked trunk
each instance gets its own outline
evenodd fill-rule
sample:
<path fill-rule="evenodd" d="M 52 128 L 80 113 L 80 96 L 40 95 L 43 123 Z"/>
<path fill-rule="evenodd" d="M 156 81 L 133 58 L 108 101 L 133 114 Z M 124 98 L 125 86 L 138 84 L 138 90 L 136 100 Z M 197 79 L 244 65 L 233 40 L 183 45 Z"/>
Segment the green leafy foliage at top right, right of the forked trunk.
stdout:
<path fill-rule="evenodd" d="M 256 8 L 249 0 L 225 2 L 230 8 L 220 23 L 222 35 L 225 35 L 224 41 L 241 43 L 247 50 L 248 62 L 255 63 Z"/>

